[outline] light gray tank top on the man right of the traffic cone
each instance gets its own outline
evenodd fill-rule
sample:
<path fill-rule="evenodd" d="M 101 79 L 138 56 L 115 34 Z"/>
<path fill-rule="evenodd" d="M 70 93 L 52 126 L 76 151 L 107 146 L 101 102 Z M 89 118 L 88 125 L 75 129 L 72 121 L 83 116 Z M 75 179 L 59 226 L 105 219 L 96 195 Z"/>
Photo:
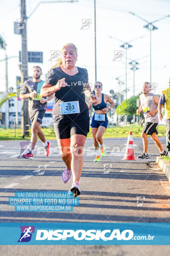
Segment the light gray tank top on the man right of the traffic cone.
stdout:
<path fill-rule="evenodd" d="M 147 110 L 155 110 L 156 108 L 158 108 L 158 104 L 156 104 L 156 102 L 154 102 L 153 100 L 153 93 L 149 93 L 147 96 L 144 96 L 144 94 L 142 93 L 139 97 L 140 99 L 140 103 L 142 105 L 142 110 L 144 112 L 144 122 L 153 122 L 153 123 L 159 123 L 159 119 L 158 119 L 158 112 L 156 112 L 153 116 L 149 116 L 146 111 Z"/>

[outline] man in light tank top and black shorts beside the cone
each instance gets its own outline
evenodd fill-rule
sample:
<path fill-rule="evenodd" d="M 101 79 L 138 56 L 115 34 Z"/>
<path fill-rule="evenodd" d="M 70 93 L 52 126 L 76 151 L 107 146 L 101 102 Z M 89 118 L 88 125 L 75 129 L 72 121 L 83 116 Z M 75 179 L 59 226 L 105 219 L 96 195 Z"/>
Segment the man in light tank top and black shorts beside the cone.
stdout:
<path fill-rule="evenodd" d="M 159 96 L 150 93 L 150 84 L 148 82 L 144 82 L 142 88 L 142 94 L 139 97 L 140 99 L 140 108 L 137 109 L 136 113 L 139 114 L 141 111 L 144 112 L 144 128 L 142 130 L 142 140 L 143 140 L 143 153 L 139 156 L 139 159 L 147 159 L 147 146 L 148 146 L 148 138 L 147 135 L 150 135 L 152 140 L 155 142 L 157 148 L 160 151 L 160 156 L 167 156 L 167 151 L 163 150 L 161 146 L 161 142 L 157 137 L 156 127 L 159 123 L 158 119 L 158 103 Z"/>

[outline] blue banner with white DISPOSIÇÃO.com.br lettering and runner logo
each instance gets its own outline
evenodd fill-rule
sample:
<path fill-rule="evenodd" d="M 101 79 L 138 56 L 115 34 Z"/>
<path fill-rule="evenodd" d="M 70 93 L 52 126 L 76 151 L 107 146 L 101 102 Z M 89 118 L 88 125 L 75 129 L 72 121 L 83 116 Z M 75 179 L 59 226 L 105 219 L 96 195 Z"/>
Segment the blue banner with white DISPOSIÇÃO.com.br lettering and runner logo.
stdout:
<path fill-rule="evenodd" d="M 170 245 L 170 223 L 0 223 L 0 244 Z"/>

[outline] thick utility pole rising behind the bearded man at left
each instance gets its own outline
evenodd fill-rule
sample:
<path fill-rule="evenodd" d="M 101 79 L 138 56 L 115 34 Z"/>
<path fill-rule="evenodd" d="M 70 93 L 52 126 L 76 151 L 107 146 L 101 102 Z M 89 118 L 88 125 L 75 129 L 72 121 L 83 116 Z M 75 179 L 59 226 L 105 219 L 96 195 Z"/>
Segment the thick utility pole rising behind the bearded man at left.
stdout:
<path fill-rule="evenodd" d="M 21 19 L 27 20 L 26 16 L 26 0 L 21 0 Z M 26 23 L 21 29 L 22 36 L 22 52 L 21 52 L 21 83 L 28 79 L 28 52 L 27 52 L 27 31 Z M 21 100 L 21 129 L 24 137 L 29 136 L 29 116 L 28 116 L 28 99 Z"/>

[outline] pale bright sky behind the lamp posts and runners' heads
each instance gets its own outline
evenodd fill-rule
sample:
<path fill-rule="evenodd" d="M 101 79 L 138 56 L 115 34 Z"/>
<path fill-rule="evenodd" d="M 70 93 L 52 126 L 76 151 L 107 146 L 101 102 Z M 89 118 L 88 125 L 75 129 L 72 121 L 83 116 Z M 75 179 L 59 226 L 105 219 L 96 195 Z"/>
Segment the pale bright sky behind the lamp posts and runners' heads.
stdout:
<path fill-rule="evenodd" d="M 27 16 L 40 0 L 26 0 Z M 103 84 L 103 93 L 125 90 L 119 87 L 116 77 L 125 82 L 125 52 L 120 61 L 113 61 L 114 51 L 123 50 L 122 42 L 132 41 L 127 50 L 127 63 L 139 59 L 135 72 L 135 94 L 142 91 L 144 81 L 150 82 L 150 32 L 144 29 L 146 22 L 130 15 L 134 12 L 148 22 L 170 15 L 169 0 L 96 0 L 96 58 L 97 81 Z M 20 19 L 20 0 L 0 1 L 0 35 L 6 41 L 6 53 L 18 56 L 21 36 L 14 35 L 14 21 Z M 81 29 L 82 19 L 90 19 L 88 29 Z M 154 23 L 158 29 L 152 32 L 152 82 L 157 84 L 156 94 L 168 87 L 170 77 L 170 17 Z M 110 38 L 114 37 L 119 40 Z M 76 65 L 88 70 L 89 82 L 95 83 L 94 55 L 94 0 L 77 3 L 42 3 L 27 20 L 27 49 L 42 51 L 43 63 L 28 63 L 28 76 L 35 65 L 42 67 L 43 76 L 55 64 L 50 61 L 51 51 L 61 50 L 71 42 L 78 49 Z M 148 56 L 148 57 L 145 57 Z M 5 58 L 0 49 L 0 60 Z M 20 76 L 19 58 L 8 60 L 8 87 L 16 88 L 16 76 Z M 133 96 L 133 71 L 127 65 L 127 98 Z M 5 90 L 5 61 L 0 61 L 0 92 Z"/>

